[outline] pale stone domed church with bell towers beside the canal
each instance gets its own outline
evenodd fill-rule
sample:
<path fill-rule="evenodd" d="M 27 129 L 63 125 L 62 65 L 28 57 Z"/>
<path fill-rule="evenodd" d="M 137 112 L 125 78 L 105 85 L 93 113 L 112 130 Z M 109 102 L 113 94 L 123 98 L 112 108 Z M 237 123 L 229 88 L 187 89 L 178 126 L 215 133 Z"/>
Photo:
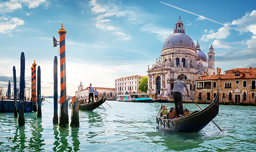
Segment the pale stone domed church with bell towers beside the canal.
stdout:
<path fill-rule="evenodd" d="M 201 51 L 200 45 L 185 34 L 183 22 L 176 22 L 173 34 L 164 42 L 160 57 L 156 63 L 148 65 L 147 93 L 172 94 L 173 83 L 182 75 L 194 98 L 196 81 L 202 77 L 213 75 L 214 55 L 211 45 L 207 56 Z"/>

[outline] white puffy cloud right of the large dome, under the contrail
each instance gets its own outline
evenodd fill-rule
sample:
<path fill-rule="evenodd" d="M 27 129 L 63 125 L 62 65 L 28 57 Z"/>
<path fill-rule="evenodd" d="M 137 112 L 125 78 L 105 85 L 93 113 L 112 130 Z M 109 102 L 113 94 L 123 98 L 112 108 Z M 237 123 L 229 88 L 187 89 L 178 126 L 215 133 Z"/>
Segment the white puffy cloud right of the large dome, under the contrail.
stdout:
<path fill-rule="evenodd" d="M 213 33 L 210 33 L 212 32 L 212 30 L 208 31 L 209 34 L 206 34 L 206 35 L 203 35 L 201 40 L 202 41 L 209 41 L 210 39 L 226 39 L 228 37 L 228 35 L 230 34 L 229 32 L 229 29 L 228 27 L 221 27 L 218 29 L 217 32 L 213 32 Z"/>

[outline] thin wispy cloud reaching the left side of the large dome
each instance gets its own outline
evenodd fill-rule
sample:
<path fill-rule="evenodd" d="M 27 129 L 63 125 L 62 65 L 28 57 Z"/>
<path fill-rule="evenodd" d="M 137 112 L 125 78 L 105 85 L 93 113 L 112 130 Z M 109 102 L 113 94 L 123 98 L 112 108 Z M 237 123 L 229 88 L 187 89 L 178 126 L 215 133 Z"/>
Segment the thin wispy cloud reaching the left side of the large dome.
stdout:
<path fill-rule="evenodd" d="M 156 34 L 157 35 L 156 38 L 160 41 L 165 41 L 165 39 L 172 34 L 171 29 L 157 27 L 156 25 L 153 25 L 153 24 L 145 24 L 142 26 L 141 30 L 143 32 Z"/>

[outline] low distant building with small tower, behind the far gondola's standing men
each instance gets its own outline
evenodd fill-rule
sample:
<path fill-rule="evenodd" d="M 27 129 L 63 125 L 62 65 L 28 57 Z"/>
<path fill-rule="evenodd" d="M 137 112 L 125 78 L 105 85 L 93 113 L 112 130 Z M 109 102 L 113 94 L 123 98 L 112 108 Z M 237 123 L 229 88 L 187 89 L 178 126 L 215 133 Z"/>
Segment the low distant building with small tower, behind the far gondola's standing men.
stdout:
<path fill-rule="evenodd" d="M 105 88 L 105 87 L 93 87 L 93 88 L 97 89 L 100 97 L 102 97 L 102 96 L 107 97 L 107 98 L 115 97 L 114 88 Z M 78 86 L 78 90 L 75 91 L 75 94 L 76 94 L 76 97 L 78 97 L 79 99 L 89 97 L 89 91 L 86 89 L 86 87 L 84 89 L 82 82 L 80 82 L 80 85 Z"/>

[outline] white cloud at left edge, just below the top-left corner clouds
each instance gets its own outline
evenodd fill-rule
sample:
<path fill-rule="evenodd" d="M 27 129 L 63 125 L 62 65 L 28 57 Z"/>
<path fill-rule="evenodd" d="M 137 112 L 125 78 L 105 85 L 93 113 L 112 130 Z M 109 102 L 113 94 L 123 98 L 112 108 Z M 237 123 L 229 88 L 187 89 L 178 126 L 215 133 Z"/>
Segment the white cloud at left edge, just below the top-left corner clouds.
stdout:
<path fill-rule="evenodd" d="M 11 35 L 11 31 L 17 26 L 24 25 L 25 21 L 18 17 L 13 17 L 9 22 L 0 22 L 0 33 Z"/>

